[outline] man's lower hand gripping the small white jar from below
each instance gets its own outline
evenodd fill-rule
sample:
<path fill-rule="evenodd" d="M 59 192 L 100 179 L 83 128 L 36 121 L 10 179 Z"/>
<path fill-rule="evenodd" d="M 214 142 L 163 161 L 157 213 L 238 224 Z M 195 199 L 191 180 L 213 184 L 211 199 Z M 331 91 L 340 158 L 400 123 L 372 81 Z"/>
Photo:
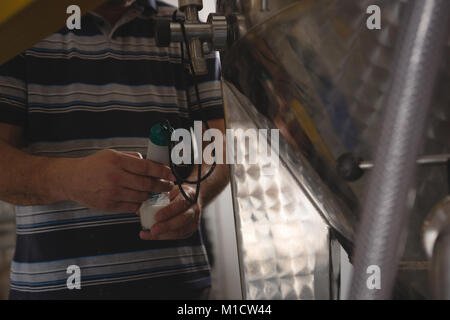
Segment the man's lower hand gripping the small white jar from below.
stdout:
<path fill-rule="evenodd" d="M 195 188 L 183 186 L 189 197 L 194 197 Z M 141 231 L 142 240 L 178 240 L 191 237 L 200 224 L 202 208 L 192 204 L 181 194 L 178 186 L 170 192 L 170 204 L 155 215 L 156 224 L 150 231 Z"/>

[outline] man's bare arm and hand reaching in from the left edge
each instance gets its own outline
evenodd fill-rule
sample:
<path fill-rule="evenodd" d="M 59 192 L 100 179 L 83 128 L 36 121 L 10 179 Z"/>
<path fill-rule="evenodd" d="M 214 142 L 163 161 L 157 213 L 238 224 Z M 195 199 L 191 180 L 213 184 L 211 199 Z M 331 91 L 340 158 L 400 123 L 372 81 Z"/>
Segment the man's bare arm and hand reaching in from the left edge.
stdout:
<path fill-rule="evenodd" d="M 23 129 L 0 124 L 0 200 L 16 205 L 76 201 L 90 209 L 136 212 L 148 192 L 172 189 L 168 167 L 136 153 L 102 150 L 84 158 L 49 158 L 19 150 Z"/>

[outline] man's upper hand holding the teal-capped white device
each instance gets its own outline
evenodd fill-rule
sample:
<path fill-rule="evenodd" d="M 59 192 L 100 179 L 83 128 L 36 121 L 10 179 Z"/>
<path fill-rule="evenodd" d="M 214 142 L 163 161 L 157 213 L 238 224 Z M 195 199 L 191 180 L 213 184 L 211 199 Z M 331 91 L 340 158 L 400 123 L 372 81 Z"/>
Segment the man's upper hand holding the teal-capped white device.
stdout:
<path fill-rule="evenodd" d="M 168 192 L 175 178 L 168 167 L 138 153 L 99 151 L 67 168 L 63 198 L 110 212 L 136 212 L 149 192 Z"/>

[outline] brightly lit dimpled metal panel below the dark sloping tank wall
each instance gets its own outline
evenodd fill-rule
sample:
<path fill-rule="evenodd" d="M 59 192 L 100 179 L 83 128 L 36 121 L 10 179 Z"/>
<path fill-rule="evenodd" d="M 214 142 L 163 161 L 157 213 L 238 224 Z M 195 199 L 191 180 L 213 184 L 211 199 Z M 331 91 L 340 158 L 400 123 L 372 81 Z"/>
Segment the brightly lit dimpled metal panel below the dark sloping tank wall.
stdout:
<path fill-rule="evenodd" d="M 264 119 L 259 118 L 248 100 L 233 92 L 227 83 L 223 90 L 229 129 L 266 128 Z M 270 137 L 267 140 L 271 141 Z M 234 146 L 234 155 L 246 155 L 244 163 L 232 169 L 243 296 L 335 298 L 337 283 L 330 276 L 333 277 L 333 267 L 334 272 L 339 268 L 338 261 L 332 261 L 333 255 L 339 256 L 339 248 L 332 246 L 317 208 L 286 164 L 275 169 L 273 175 L 264 175 L 264 169 L 272 164 L 258 144 L 237 140 Z M 258 155 L 256 164 L 247 159 L 252 152 Z M 330 283 L 334 289 L 330 289 Z"/>

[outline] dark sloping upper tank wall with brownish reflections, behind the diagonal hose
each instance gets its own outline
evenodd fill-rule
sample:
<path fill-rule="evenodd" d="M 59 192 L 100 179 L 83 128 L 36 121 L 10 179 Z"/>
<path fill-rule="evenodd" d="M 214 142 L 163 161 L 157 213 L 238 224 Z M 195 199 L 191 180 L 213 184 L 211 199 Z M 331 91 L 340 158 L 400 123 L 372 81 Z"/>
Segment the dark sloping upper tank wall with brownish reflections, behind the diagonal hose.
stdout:
<path fill-rule="evenodd" d="M 348 152 L 375 157 L 406 3 L 272 0 L 270 11 L 262 12 L 260 1 L 218 1 L 220 14 L 238 12 L 247 29 L 222 56 L 227 86 L 247 99 L 244 105 L 257 115 L 253 118 L 280 129 L 291 150 L 280 151 L 283 163 L 297 162 L 287 166 L 290 174 L 350 255 L 367 176 L 346 182 L 336 171 L 336 160 Z M 366 28 L 366 9 L 372 4 L 381 8 L 381 30 Z M 422 154 L 450 153 L 449 53 L 447 46 Z M 444 166 L 418 168 L 395 297 L 429 296 L 427 270 L 417 267 L 428 260 L 421 226 L 426 212 L 446 195 L 446 176 Z"/>

